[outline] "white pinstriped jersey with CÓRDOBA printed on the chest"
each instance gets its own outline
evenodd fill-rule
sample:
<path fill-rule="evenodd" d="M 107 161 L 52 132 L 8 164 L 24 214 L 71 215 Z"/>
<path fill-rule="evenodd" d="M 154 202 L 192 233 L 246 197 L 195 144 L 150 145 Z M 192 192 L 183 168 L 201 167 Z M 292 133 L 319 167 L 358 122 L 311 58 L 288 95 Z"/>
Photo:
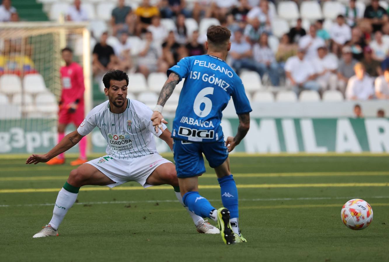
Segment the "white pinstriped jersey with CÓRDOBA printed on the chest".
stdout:
<path fill-rule="evenodd" d="M 77 128 L 80 135 L 88 135 L 95 127 L 107 140 L 107 154 L 119 159 L 136 158 L 158 153 L 153 135 L 159 137 L 150 120 L 152 111 L 145 104 L 127 99 L 123 113 L 110 111 L 109 101 L 93 108 Z M 163 130 L 166 125 L 163 125 Z"/>

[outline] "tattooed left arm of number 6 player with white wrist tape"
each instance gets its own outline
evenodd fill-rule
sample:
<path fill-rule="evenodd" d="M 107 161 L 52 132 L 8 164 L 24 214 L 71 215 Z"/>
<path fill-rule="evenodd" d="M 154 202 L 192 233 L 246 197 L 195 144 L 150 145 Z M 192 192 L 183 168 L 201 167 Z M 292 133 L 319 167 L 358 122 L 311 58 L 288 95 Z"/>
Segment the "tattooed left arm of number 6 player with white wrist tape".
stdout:
<path fill-rule="evenodd" d="M 173 90 L 179 81 L 180 77 L 176 73 L 172 72 L 170 73 L 168 80 L 166 80 L 165 85 L 162 87 L 157 105 L 153 110 L 154 113 L 151 116 L 152 125 L 155 127 L 156 132 L 158 132 L 158 128 L 161 127 L 161 123 L 168 123 L 165 119 L 163 119 L 162 109 L 163 106 L 165 106 L 166 101 L 168 101 L 170 95 L 172 95 Z"/>

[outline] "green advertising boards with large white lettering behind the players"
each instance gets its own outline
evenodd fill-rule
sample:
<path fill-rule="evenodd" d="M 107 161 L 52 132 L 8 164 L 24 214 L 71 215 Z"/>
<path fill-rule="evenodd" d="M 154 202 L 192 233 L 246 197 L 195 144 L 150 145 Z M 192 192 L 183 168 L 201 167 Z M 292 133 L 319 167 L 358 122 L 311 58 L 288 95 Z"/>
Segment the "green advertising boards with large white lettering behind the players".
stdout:
<path fill-rule="evenodd" d="M 171 124 L 172 119 L 167 119 Z M 225 136 L 235 135 L 239 120 L 224 118 Z M 1 120 L 0 154 L 43 153 L 56 143 L 56 121 Z M 171 129 L 171 127 L 169 127 Z M 69 127 L 67 132 L 74 130 Z M 98 128 L 89 135 L 92 153 L 103 153 L 107 142 Z M 169 152 L 156 139 L 160 153 Z M 78 151 L 77 146 L 70 149 Z M 245 153 L 389 153 L 387 118 L 252 118 L 249 133 L 236 147 Z"/>

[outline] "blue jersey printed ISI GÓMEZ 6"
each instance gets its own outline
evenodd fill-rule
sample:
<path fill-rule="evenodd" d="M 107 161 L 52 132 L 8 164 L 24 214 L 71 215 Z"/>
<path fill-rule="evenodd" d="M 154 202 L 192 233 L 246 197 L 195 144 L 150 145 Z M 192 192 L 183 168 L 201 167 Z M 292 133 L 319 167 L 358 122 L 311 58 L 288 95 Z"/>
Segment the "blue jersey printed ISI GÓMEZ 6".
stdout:
<path fill-rule="evenodd" d="M 191 56 L 167 72 L 185 78 L 173 121 L 172 137 L 183 141 L 215 142 L 223 139 L 222 111 L 232 97 L 238 115 L 252 111 L 242 80 L 222 59 Z"/>

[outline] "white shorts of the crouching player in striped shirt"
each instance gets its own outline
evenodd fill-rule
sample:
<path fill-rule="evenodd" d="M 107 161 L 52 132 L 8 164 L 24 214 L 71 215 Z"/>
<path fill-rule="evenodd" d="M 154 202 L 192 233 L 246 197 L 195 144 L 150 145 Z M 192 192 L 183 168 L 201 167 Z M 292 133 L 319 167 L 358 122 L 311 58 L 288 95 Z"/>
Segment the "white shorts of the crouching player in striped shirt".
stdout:
<path fill-rule="evenodd" d="M 147 177 L 160 165 L 172 163 L 159 154 L 148 154 L 138 158 L 118 159 L 110 155 L 102 156 L 86 162 L 100 170 L 104 175 L 116 183 L 109 187 L 119 186 L 125 182 L 135 181 L 144 188 L 152 185 L 146 183 Z"/>

